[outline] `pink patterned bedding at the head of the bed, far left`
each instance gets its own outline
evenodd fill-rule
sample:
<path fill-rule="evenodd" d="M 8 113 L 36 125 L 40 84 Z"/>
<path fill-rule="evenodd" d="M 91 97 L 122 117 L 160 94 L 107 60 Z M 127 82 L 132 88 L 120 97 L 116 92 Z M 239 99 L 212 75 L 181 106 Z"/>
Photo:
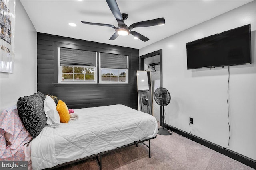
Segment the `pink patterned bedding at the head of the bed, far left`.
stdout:
<path fill-rule="evenodd" d="M 0 115 L 0 160 L 26 160 L 28 168 L 32 169 L 30 146 L 24 146 L 30 138 L 20 120 L 17 107 L 5 109 Z"/>

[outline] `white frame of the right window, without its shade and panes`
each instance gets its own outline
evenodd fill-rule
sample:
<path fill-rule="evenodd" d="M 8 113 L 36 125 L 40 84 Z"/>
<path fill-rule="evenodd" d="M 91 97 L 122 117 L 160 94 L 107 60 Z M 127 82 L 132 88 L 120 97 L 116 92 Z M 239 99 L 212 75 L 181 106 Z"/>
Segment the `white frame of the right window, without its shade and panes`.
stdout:
<path fill-rule="evenodd" d="M 129 83 L 129 56 L 126 55 L 127 57 L 127 69 L 115 69 L 115 68 L 105 68 L 105 69 L 110 69 L 110 70 L 125 70 L 125 82 L 124 81 L 102 81 L 102 67 L 100 63 L 100 52 L 99 52 L 99 84 L 128 84 Z M 117 75 L 119 76 L 119 74 Z"/>

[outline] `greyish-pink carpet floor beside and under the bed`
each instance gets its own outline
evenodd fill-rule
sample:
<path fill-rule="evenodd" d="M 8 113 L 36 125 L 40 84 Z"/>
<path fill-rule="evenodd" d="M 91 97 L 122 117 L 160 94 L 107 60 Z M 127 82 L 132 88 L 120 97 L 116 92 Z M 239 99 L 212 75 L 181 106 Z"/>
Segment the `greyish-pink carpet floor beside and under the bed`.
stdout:
<path fill-rule="evenodd" d="M 58 168 L 58 170 L 98 169 L 95 158 Z M 143 144 L 102 156 L 102 170 L 253 170 L 253 168 L 173 133 L 168 136 L 157 135 L 151 140 L 151 158 L 148 157 L 148 148 Z"/>

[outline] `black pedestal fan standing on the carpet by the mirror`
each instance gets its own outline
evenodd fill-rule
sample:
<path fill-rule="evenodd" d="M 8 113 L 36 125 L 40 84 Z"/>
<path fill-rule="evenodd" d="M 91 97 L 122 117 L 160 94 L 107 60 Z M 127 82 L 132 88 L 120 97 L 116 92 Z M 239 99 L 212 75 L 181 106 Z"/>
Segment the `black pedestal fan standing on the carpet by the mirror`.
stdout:
<path fill-rule="evenodd" d="M 154 92 L 154 99 L 157 104 L 163 107 L 163 117 L 162 117 L 162 127 L 159 129 L 158 134 L 159 135 L 172 135 L 172 131 L 168 131 L 167 129 L 164 129 L 164 106 L 167 106 L 170 101 L 171 101 L 171 95 L 166 90 L 166 88 L 160 87 L 157 88 L 156 91 Z"/>

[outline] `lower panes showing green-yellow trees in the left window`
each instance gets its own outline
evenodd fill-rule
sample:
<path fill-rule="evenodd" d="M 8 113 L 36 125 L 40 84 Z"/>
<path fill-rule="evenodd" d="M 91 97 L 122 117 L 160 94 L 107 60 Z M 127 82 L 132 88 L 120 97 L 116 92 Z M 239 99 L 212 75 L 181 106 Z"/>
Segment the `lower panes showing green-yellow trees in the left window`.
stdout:
<path fill-rule="evenodd" d="M 62 81 L 94 81 L 95 67 L 62 66 Z"/>

